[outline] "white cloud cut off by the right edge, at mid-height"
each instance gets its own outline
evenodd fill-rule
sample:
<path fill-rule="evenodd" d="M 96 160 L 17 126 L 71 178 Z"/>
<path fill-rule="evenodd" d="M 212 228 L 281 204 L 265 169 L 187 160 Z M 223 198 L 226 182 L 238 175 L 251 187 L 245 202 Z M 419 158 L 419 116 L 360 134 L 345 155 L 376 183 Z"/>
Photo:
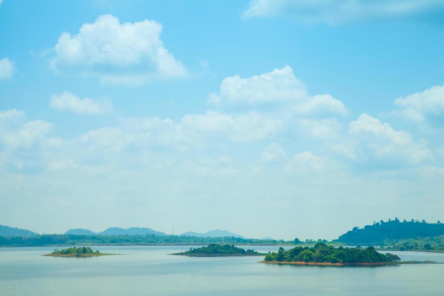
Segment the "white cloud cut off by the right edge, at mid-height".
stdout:
<path fill-rule="evenodd" d="M 392 114 L 400 115 L 414 122 L 444 121 L 444 85 L 434 86 L 423 92 L 395 99 L 398 110 Z M 433 124 L 433 123 L 432 123 Z"/>

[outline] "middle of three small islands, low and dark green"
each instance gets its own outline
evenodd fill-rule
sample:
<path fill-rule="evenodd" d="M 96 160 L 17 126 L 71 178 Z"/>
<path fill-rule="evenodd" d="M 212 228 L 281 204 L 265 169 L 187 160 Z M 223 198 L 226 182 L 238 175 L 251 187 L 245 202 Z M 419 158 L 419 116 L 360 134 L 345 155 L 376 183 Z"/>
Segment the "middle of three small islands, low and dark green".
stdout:
<path fill-rule="evenodd" d="M 264 256 L 266 253 L 258 253 L 254 250 L 244 250 L 234 245 L 210 244 L 207 247 L 190 248 L 188 251 L 170 255 L 183 255 L 193 257 L 222 257 L 222 256 Z"/>

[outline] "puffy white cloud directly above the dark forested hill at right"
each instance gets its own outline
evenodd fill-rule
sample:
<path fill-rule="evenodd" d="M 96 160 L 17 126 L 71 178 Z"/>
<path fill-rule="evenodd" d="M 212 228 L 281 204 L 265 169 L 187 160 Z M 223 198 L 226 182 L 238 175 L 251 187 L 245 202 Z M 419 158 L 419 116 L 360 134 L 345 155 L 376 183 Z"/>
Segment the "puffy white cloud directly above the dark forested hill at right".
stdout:
<path fill-rule="evenodd" d="M 359 141 L 356 150 L 361 158 L 384 160 L 388 166 L 417 165 L 433 159 L 426 140 L 416 143 L 408 132 L 395 131 L 367 113 L 349 123 L 349 132 Z"/>

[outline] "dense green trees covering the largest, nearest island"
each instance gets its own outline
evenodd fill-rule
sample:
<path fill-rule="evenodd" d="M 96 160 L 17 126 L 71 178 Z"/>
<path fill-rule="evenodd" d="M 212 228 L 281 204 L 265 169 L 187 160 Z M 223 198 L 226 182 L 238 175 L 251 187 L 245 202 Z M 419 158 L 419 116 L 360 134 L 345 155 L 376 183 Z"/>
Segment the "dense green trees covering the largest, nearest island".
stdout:
<path fill-rule="evenodd" d="M 285 251 L 282 247 L 277 253 L 269 253 L 265 256 L 265 261 L 277 262 L 315 262 L 333 264 L 374 264 L 399 261 L 396 255 L 378 253 L 375 248 L 335 248 L 317 243 L 314 247 L 295 247 Z"/>

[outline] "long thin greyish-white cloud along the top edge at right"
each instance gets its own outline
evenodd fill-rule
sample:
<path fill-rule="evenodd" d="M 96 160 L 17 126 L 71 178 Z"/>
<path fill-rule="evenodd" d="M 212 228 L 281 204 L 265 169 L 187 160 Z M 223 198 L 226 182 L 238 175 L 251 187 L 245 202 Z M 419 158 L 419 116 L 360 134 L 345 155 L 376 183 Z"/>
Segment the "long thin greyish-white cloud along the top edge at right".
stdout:
<path fill-rule="evenodd" d="M 243 17 L 290 15 L 305 23 L 331 25 L 401 18 L 443 8 L 443 0 L 252 0 Z"/>

